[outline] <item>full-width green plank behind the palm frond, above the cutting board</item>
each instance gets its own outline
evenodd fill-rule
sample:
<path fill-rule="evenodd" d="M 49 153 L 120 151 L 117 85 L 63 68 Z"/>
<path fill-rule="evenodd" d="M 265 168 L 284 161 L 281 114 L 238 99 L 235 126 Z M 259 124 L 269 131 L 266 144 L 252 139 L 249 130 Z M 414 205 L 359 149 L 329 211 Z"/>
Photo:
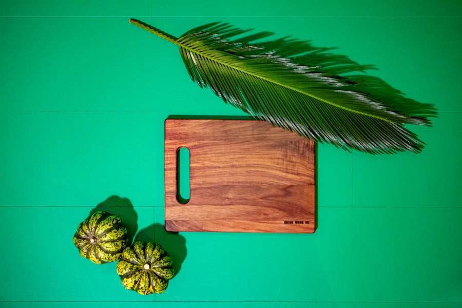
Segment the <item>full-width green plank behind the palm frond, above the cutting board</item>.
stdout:
<path fill-rule="evenodd" d="M 143 20 L 179 36 L 217 18 Z M 379 70 L 371 74 L 410 98 L 437 103 L 439 111 L 462 111 L 460 18 L 220 20 L 336 47 L 336 53 L 375 65 Z M 190 81 L 174 44 L 125 17 L 0 18 L 0 37 L 0 110 L 235 112 Z"/>

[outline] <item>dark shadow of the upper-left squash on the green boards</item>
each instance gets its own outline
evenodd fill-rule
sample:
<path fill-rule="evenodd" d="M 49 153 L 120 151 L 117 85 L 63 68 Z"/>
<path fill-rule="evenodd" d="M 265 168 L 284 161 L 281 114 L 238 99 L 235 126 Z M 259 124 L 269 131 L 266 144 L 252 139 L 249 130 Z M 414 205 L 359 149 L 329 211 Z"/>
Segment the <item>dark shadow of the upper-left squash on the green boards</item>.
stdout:
<path fill-rule="evenodd" d="M 127 228 L 128 245 L 131 245 L 133 237 L 138 230 L 138 214 L 134 210 L 130 200 L 119 196 L 111 196 L 93 208 L 90 211 L 90 215 L 99 210 L 115 214 L 122 219 L 124 226 Z"/>

